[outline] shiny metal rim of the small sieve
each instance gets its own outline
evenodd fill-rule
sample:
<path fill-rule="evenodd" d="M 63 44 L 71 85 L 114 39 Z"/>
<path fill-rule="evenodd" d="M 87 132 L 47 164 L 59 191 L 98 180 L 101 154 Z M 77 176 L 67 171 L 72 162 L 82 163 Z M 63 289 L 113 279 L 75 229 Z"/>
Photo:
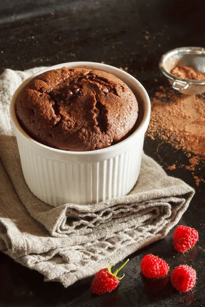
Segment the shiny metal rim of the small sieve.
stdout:
<path fill-rule="evenodd" d="M 171 79 L 172 81 L 181 81 L 181 83 L 189 83 L 189 85 L 205 85 L 205 81 L 199 81 L 199 80 L 191 80 L 191 79 L 182 79 L 179 78 L 171 73 L 169 73 L 166 69 L 165 69 L 165 61 L 167 60 L 167 58 L 169 58 L 170 56 L 173 56 L 175 54 L 179 54 L 179 53 L 195 53 L 195 54 L 204 54 L 205 55 L 205 49 L 202 47 L 180 47 L 180 48 L 175 48 L 172 49 L 170 51 L 168 51 L 167 53 L 163 54 L 159 60 L 159 69 L 160 71 L 169 79 Z"/>

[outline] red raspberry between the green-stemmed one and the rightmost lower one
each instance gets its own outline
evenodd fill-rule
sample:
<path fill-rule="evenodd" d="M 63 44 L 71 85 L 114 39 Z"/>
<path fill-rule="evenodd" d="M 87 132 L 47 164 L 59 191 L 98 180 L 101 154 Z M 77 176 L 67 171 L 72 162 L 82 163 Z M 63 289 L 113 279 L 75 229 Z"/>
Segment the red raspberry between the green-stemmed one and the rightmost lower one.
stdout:
<path fill-rule="evenodd" d="M 146 255 L 140 262 L 141 273 L 148 278 L 158 278 L 167 275 L 169 266 L 167 262 L 152 254 Z"/>

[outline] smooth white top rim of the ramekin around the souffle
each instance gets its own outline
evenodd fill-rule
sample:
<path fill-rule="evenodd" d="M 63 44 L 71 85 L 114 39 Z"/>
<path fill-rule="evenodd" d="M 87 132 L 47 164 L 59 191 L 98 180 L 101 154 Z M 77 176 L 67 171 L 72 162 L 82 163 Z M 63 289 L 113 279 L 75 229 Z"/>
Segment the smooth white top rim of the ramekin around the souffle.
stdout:
<path fill-rule="evenodd" d="M 25 131 L 24 129 L 20 126 L 20 124 L 18 123 L 17 117 L 16 117 L 16 113 L 15 113 L 15 101 L 16 101 L 16 97 L 18 95 L 18 93 L 23 89 L 23 87 L 30 81 L 32 80 L 34 77 L 36 77 L 39 74 L 42 74 L 48 70 L 52 70 L 52 69 L 59 69 L 62 67 L 66 67 L 66 65 L 69 64 L 69 67 L 71 67 L 70 65 L 73 65 L 73 67 L 75 67 L 75 65 L 79 65 L 81 64 L 82 67 L 84 67 L 85 65 L 97 65 L 97 67 L 101 67 L 101 68 L 111 68 L 112 70 L 115 70 L 117 72 L 119 72 L 120 74 L 128 77 L 129 79 L 131 79 L 132 81 L 134 81 L 137 84 L 137 87 L 140 88 L 140 92 L 141 92 L 141 96 L 144 98 L 143 103 L 145 104 L 144 107 L 144 117 L 141 120 L 141 123 L 139 125 L 139 127 L 129 136 L 127 137 L 125 140 L 120 141 L 117 144 L 114 144 L 112 146 L 106 147 L 106 148 L 101 148 L 101 149 L 97 149 L 97 150 L 90 150 L 90 151 L 69 151 L 69 150 L 61 150 L 61 149 L 57 149 L 57 148 L 53 148 L 53 147 L 49 147 L 47 145 L 44 145 L 36 140 L 34 140 L 33 138 L 31 138 Z M 79 66 L 78 66 L 79 67 Z M 97 69 L 96 69 L 97 70 Z M 99 69 L 100 70 L 100 69 Z M 110 73 L 110 72 L 109 72 Z M 126 83 L 126 82 L 125 82 Z M 128 84 L 127 84 L 128 85 Z M 129 85 L 128 85 L 129 86 Z M 32 143 L 33 145 L 43 148 L 45 150 L 49 150 L 49 151 L 53 151 L 56 153 L 64 153 L 65 155 L 77 155 L 77 156 L 86 156 L 86 155 L 97 155 L 99 153 L 108 153 L 110 151 L 116 150 L 117 148 L 120 148 L 122 145 L 128 144 L 134 137 L 136 137 L 136 135 L 140 135 L 142 132 L 143 134 L 145 134 L 145 131 L 147 130 L 148 124 L 149 124 L 149 119 L 150 119 L 150 113 L 151 113 L 151 103 L 150 103 L 150 98 L 148 96 L 147 91 L 145 90 L 145 87 L 133 76 L 131 76 L 130 74 L 128 74 L 125 71 L 122 71 L 112 65 L 108 65 L 108 64 L 103 64 L 103 63 L 98 63 L 98 62 L 89 62 L 89 61 L 75 61 L 75 62 L 66 62 L 66 63 L 59 63 L 56 65 L 52 65 L 50 67 L 47 67 L 46 69 L 40 70 L 39 72 L 33 74 L 32 76 L 30 76 L 29 78 L 27 78 L 22 84 L 20 84 L 16 91 L 14 92 L 12 99 L 11 99 L 11 103 L 10 103 L 10 109 L 9 109 L 9 113 L 10 113 L 10 120 L 12 121 L 12 123 L 14 124 L 16 130 L 18 131 L 18 133 L 25 138 L 28 142 Z"/>

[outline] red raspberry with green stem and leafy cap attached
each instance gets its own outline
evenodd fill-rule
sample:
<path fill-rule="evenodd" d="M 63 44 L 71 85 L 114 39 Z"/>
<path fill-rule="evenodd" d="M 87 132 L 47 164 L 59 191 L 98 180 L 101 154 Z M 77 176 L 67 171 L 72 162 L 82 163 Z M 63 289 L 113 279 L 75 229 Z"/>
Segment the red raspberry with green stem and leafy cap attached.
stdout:
<path fill-rule="evenodd" d="M 108 268 L 101 269 L 97 272 L 91 283 L 92 292 L 100 295 L 115 290 L 119 284 L 119 280 L 125 276 L 125 274 L 123 274 L 122 276 L 117 277 L 117 273 L 127 264 L 128 261 L 129 259 L 114 273 L 111 272 L 111 268 L 114 264 L 110 264 Z"/>

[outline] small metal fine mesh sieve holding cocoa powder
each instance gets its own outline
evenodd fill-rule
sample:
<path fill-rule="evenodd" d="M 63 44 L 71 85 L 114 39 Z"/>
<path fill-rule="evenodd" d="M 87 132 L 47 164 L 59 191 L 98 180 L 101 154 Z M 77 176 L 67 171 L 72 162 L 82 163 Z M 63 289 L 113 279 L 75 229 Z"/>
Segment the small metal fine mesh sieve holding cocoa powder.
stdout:
<path fill-rule="evenodd" d="M 196 95 L 205 92 L 205 80 L 189 80 L 174 76 L 170 71 L 177 65 L 192 67 L 205 73 L 205 50 L 201 47 L 176 48 L 162 55 L 159 68 L 168 78 L 173 89 L 186 95 Z"/>

